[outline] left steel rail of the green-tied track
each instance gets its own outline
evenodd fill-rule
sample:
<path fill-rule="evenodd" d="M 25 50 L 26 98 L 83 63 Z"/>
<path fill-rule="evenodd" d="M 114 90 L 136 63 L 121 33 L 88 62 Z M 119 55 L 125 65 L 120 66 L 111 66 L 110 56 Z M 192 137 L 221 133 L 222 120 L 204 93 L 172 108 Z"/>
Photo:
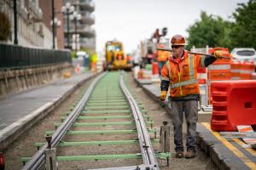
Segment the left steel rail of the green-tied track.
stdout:
<path fill-rule="evenodd" d="M 55 147 L 61 139 L 65 136 L 68 129 L 73 125 L 73 122 L 76 120 L 76 117 L 79 116 L 80 112 L 83 111 L 84 105 L 86 104 L 87 100 L 90 97 L 92 90 L 95 88 L 96 83 L 104 77 L 106 72 L 102 73 L 99 77 L 90 84 L 90 87 L 87 89 L 86 93 L 84 94 L 83 98 L 79 101 L 79 104 L 73 109 L 71 114 L 67 116 L 67 119 L 58 127 L 55 133 L 52 136 L 51 144 L 52 147 Z M 44 144 L 38 152 L 32 156 L 32 159 L 28 161 L 22 170 L 38 170 L 45 161 L 44 150 L 47 148 L 47 144 Z"/>

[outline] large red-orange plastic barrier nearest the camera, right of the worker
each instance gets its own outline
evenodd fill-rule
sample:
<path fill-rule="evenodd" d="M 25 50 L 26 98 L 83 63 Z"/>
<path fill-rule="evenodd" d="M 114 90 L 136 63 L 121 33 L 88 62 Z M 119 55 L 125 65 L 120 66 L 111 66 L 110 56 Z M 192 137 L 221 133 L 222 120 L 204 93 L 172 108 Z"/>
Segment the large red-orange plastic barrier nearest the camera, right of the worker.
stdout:
<path fill-rule="evenodd" d="M 256 125 L 256 81 L 212 82 L 213 131 L 236 131 L 237 125 Z"/>

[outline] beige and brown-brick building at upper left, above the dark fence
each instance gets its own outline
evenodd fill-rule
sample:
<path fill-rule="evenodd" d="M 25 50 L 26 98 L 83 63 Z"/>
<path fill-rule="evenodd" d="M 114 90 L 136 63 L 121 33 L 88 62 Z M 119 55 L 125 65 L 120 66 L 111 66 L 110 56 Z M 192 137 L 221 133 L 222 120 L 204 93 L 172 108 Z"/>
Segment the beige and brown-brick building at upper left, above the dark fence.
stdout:
<path fill-rule="evenodd" d="M 17 0 L 18 44 L 53 48 L 52 0 Z M 62 0 L 55 0 L 55 19 L 60 20 L 61 26 L 55 26 L 55 48 L 64 48 L 64 26 L 61 7 Z M 14 1 L 0 0 L 0 12 L 9 17 L 12 37 L 7 43 L 14 43 Z"/>

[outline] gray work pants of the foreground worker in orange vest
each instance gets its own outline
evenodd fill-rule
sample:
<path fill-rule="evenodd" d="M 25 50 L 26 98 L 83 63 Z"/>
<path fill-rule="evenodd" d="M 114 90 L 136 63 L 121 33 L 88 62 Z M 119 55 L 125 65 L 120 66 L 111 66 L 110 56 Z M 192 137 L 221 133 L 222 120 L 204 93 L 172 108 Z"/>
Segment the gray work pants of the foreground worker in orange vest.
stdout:
<path fill-rule="evenodd" d="M 183 151 L 183 113 L 187 122 L 187 150 L 195 150 L 195 131 L 198 115 L 197 100 L 170 101 L 176 151 Z"/>

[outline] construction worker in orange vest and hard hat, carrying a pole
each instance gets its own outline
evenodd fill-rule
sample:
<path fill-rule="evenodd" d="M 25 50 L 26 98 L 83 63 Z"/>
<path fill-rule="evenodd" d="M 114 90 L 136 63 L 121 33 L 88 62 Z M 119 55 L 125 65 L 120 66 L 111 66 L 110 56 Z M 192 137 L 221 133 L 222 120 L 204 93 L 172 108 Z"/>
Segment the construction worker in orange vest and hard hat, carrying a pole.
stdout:
<path fill-rule="evenodd" d="M 170 87 L 169 106 L 171 107 L 172 123 L 174 127 L 174 144 L 176 157 L 183 155 L 183 114 L 187 122 L 187 140 L 185 153 L 186 158 L 196 156 L 195 131 L 198 115 L 198 100 L 200 97 L 199 84 L 197 81 L 197 68 L 207 67 L 221 54 L 216 52 L 214 56 L 189 54 L 184 50 L 187 45 L 181 35 L 172 37 L 172 58 L 166 61 L 161 71 L 161 94 L 160 100 L 166 100 L 166 93 Z"/>

